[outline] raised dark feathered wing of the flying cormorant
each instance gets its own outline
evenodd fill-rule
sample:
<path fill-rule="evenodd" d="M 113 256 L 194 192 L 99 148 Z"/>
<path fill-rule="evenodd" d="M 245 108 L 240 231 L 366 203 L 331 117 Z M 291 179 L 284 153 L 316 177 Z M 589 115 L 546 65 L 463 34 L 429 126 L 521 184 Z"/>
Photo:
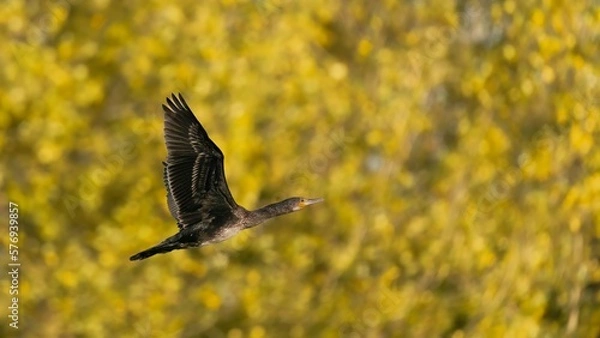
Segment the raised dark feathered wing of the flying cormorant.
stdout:
<path fill-rule="evenodd" d="M 231 217 L 237 207 L 227 187 L 223 152 L 208 137 L 183 96 L 167 98 L 164 181 L 169 211 L 180 229 Z"/>

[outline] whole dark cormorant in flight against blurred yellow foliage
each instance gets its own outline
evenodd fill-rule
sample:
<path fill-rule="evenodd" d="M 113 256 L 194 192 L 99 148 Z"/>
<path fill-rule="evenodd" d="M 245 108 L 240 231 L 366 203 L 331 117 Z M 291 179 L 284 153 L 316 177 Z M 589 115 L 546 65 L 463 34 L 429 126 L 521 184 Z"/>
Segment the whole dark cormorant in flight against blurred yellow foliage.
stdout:
<path fill-rule="evenodd" d="M 165 142 L 167 161 L 163 181 L 167 205 L 179 232 L 129 260 L 141 260 L 173 250 L 224 241 L 238 232 L 279 215 L 298 211 L 322 198 L 292 197 L 248 211 L 238 205 L 227 187 L 223 153 L 208 137 L 183 96 L 167 98 Z"/>

